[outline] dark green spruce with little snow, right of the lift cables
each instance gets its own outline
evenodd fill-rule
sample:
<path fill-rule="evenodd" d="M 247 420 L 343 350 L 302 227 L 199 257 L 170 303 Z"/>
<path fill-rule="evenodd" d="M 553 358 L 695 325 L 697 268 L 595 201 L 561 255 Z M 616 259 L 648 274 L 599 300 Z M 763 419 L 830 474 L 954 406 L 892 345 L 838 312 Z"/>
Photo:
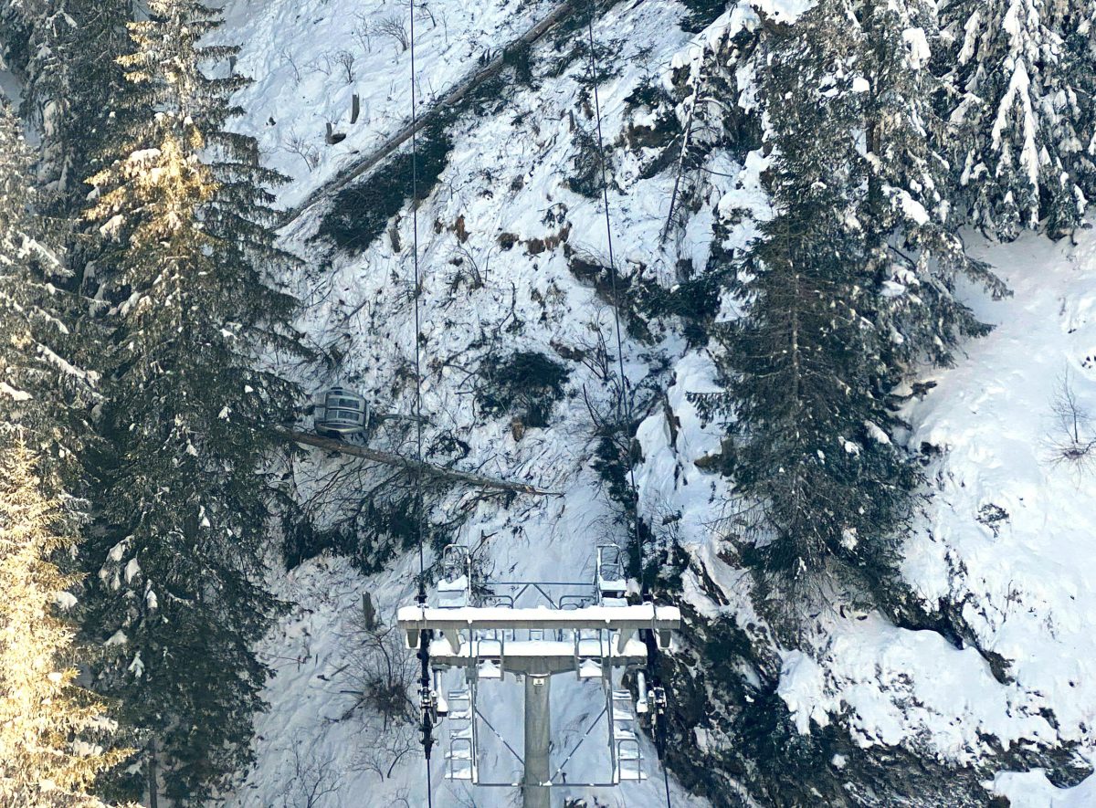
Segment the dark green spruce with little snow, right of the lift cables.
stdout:
<path fill-rule="evenodd" d="M 857 227 L 863 162 L 833 149 L 844 120 L 825 103 L 855 76 L 812 73 L 802 43 L 768 62 L 775 216 L 734 261 L 745 303 L 717 333 L 726 393 L 701 400 L 727 416 L 735 523 L 763 592 L 794 612 L 831 575 L 872 587 L 889 576 L 895 529 L 915 475 L 888 437 L 888 335 L 872 305 L 868 245 Z M 777 91 L 784 88 L 785 92 Z M 800 92 L 788 93 L 798 88 Z M 812 103 L 804 92 L 819 92 Z"/>

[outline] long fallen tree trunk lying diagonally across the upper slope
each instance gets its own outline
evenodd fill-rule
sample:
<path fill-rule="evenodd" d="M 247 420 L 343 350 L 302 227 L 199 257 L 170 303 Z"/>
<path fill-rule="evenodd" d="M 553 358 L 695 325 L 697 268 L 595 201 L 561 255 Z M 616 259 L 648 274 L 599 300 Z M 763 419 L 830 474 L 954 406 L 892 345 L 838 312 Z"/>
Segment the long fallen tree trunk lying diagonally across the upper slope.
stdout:
<path fill-rule="evenodd" d="M 487 65 L 481 67 L 479 70 L 472 72 L 466 79 L 458 81 L 456 86 L 450 89 L 445 95 L 437 100 L 437 102 L 426 112 L 422 114 L 419 120 L 414 124 L 409 124 L 400 129 L 398 132 L 392 135 L 388 140 L 381 143 L 378 148 L 369 152 L 368 155 L 357 161 L 350 168 L 343 169 L 328 183 L 323 184 L 305 199 L 296 208 L 290 208 L 285 211 L 281 221 L 277 223 L 278 228 L 287 227 L 294 221 L 299 219 L 305 211 L 315 206 L 316 204 L 322 201 L 324 198 L 330 197 L 338 191 L 346 187 L 351 182 L 362 176 L 365 172 L 373 169 L 377 163 L 387 158 L 389 154 L 399 149 L 403 143 L 411 139 L 411 136 L 418 131 L 425 128 L 432 120 L 434 120 L 437 115 L 446 109 L 452 108 L 455 104 L 459 103 L 461 99 L 465 97 L 471 90 L 482 84 L 488 79 L 491 79 L 502 72 L 503 67 L 506 64 L 506 55 L 510 54 L 514 47 L 527 47 L 533 45 L 537 39 L 543 37 L 549 31 L 551 31 L 558 23 L 566 19 L 574 9 L 576 8 L 574 0 L 564 0 L 558 7 L 552 9 L 551 12 L 545 16 L 544 20 L 538 22 L 536 25 L 530 27 L 520 37 L 514 39 L 510 45 L 503 48 L 496 57 L 491 59 Z"/>

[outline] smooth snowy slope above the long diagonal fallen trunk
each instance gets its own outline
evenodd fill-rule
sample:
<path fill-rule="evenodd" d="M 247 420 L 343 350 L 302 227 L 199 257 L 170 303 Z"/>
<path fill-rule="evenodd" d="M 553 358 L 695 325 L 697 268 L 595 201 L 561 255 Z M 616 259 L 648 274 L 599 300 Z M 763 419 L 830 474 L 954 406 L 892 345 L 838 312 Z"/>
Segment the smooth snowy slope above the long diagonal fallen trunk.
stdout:
<path fill-rule="evenodd" d="M 419 103 L 429 105 L 551 7 L 523 0 L 416 7 Z M 258 138 L 271 165 L 293 177 L 279 194 L 282 206 L 297 204 L 410 120 L 406 5 L 243 0 L 226 4 L 225 12 L 218 38 L 244 45 L 236 69 L 255 79 L 238 96 L 244 117 L 237 126 Z M 351 125 L 355 93 L 361 113 Z M 328 123 L 346 139 L 328 146 Z"/>

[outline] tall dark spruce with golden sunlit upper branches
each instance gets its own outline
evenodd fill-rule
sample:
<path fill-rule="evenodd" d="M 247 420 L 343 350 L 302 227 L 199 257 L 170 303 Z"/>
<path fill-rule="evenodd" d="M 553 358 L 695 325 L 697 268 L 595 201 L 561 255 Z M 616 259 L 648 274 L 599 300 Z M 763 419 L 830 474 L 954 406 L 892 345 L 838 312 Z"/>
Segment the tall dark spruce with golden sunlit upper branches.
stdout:
<path fill-rule="evenodd" d="M 165 794 L 196 804 L 250 759 L 269 671 L 252 650 L 276 609 L 262 586 L 269 521 L 261 474 L 297 391 L 261 365 L 295 345 L 293 300 L 267 273 L 281 181 L 251 138 L 226 131 L 240 77 L 208 78 L 236 51 L 204 46 L 216 12 L 153 0 L 132 23 L 132 83 L 114 114 L 117 159 L 91 178 L 89 217 L 109 240 L 113 443 L 91 625 L 117 649 L 99 683 L 147 730 Z"/>

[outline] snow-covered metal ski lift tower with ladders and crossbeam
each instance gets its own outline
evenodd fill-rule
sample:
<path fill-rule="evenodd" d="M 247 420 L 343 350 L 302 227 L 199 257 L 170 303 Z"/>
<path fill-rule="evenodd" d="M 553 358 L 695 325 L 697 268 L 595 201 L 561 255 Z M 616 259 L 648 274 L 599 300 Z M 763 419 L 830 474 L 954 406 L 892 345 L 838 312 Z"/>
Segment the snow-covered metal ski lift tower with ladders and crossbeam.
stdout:
<path fill-rule="evenodd" d="M 539 602 L 523 604 L 530 596 Z M 403 607 L 397 622 L 408 648 L 425 656 L 424 725 L 431 727 L 441 718 L 448 724 L 446 778 L 518 787 L 525 808 L 551 808 L 552 788 L 607 787 L 646 780 L 636 716 L 648 712 L 657 716 L 664 695 L 661 689 L 648 689 L 643 671 L 655 648 L 669 650 L 671 633 L 681 625 L 681 611 L 627 602 L 624 556 L 617 545 L 597 547 L 592 582 L 491 581 L 479 586 L 473 586 L 467 547 L 450 545 L 443 555 L 436 605 Z M 629 669 L 637 683 L 635 700 L 619 685 L 623 671 Z M 449 670 L 463 672 L 463 683 L 443 694 L 443 673 Z M 601 782 L 564 782 L 567 760 L 555 772 L 551 769 L 551 679 L 564 673 L 604 690 L 609 766 Z M 524 679 L 525 684 L 525 771 L 520 782 L 489 782 L 480 776 L 484 720 L 477 697 L 484 685 L 501 683 L 507 674 Z"/>

